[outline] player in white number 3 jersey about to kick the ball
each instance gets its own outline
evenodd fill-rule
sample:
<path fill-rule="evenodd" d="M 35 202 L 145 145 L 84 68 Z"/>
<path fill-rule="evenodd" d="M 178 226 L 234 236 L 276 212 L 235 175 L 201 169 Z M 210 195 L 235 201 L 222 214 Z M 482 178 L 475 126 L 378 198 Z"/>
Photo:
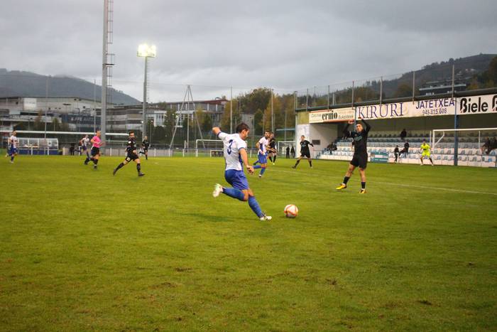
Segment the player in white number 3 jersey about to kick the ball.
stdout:
<path fill-rule="evenodd" d="M 244 202 L 249 201 L 249 206 L 258 216 L 259 220 L 271 220 L 269 215 L 265 215 L 256 198 L 253 196 L 249 182 L 245 177 L 242 164 L 246 167 L 249 173 L 253 173 L 253 167 L 249 165 L 249 157 L 247 156 L 247 144 L 245 139 L 249 136 L 249 126 L 243 122 L 236 126 L 236 134 L 226 134 L 219 127 L 212 128 L 212 132 L 224 143 L 224 161 L 226 168 L 224 169 L 224 178 L 233 188 L 226 188 L 216 183 L 212 196 L 217 197 L 220 193 L 224 193 L 231 198 L 236 198 Z"/>

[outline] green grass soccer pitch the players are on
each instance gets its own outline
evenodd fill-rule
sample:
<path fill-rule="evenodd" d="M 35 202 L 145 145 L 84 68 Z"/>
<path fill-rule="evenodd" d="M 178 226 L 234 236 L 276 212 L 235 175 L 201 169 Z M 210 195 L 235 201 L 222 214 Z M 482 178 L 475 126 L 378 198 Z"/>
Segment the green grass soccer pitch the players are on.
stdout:
<path fill-rule="evenodd" d="M 368 164 L 359 195 L 278 159 L 261 222 L 212 197 L 223 159 L 1 161 L 0 330 L 497 328 L 496 169 Z"/>

